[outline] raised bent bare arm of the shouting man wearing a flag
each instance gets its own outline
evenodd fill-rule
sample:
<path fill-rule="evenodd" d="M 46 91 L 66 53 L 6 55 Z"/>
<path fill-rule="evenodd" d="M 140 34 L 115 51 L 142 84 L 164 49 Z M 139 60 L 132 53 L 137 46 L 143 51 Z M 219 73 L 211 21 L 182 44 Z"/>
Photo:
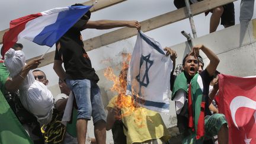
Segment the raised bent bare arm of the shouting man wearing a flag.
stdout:
<path fill-rule="evenodd" d="M 209 75 L 212 76 L 215 73 L 215 71 L 217 69 L 217 65 L 219 65 L 220 60 L 217 57 L 217 55 L 215 55 L 215 53 L 212 52 L 212 50 L 205 47 L 203 44 L 194 46 L 190 52 L 190 55 L 199 56 L 200 49 L 204 52 L 204 54 L 210 60 L 210 63 L 209 63 L 209 65 L 207 65 L 206 70 L 209 73 Z"/>

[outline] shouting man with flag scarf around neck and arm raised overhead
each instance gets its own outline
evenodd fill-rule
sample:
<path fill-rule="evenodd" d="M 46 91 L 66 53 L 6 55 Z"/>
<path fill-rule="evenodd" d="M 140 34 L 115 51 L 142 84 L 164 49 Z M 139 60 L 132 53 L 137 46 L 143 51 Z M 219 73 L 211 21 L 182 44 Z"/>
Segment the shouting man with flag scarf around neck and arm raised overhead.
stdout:
<path fill-rule="evenodd" d="M 203 51 L 210 63 L 200 73 L 199 51 Z M 183 72 L 177 76 L 172 90 L 172 100 L 175 101 L 177 125 L 182 143 L 203 143 L 217 135 L 220 144 L 228 143 L 228 127 L 223 114 L 209 112 L 209 84 L 219 64 L 219 58 L 209 48 L 202 44 L 194 46 L 190 54 L 183 59 Z M 174 79 L 171 79 L 174 81 Z M 171 82 L 172 84 L 172 82 Z M 172 87 L 171 87 L 172 88 Z"/>

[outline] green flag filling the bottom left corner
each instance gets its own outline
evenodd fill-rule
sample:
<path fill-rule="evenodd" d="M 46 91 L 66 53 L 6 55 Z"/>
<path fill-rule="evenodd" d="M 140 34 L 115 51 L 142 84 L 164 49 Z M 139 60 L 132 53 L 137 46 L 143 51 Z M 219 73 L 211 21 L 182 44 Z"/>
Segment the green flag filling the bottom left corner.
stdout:
<path fill-rule="evenodd" d="M 0 144 L 33 144 L 0 91 Z"/>

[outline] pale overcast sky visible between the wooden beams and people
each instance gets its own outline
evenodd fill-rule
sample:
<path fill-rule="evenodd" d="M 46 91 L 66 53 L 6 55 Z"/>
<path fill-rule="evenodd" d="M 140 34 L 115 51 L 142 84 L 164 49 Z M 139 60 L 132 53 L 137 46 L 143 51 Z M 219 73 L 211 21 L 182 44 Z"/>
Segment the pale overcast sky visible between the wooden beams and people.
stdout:
<path fill-rule="evenodd" d="M 67 7 L 75 3 L 82 3 L 82 0 L 4 0 L 1 1 L 0 9 L 0 30 L 5 30 L 9 27 L 9 21 L 23 17 L 24 15 L 34 14 L 41 11 L 56 7 Z M 100 2 L 100 1 L 99 1 Z M 235 4 L 235 24 L 239 24 L 239 5 L 240 1 L 234 2 Z M 256 4 L 255 4 L 256 5 Z M 152 17 L 156 17 L 161 14 L 165 14 L 169 11 L 174 11 L 173 1 L 170 0 L 128 0 L 121 2 L 120 4 L 113 5 L 108 8 L 101 9 L 97 12 L 92 12 L 91 20 L 137 20 L 143 21 Z M 254 11 L 253 18 L 256 17 Z M 209 21 L 210 14 L 206 17 L 204 14 L 200 14 L 194 17 L 194 23 L 196 25 L 197 37 L 204 36 L 209 33 Z M 222 25 L 219 25 L 217 30 L 221 30 Z M 84 40 L 92 37 L 100 36 L 101 34 L 109 31 L 116 30 L 84 30 L 82 36 Z M 146 32 L 149 37 L 159 41 L 162 47 L 173 46 L 178 43 L 186 41 L 185 37 L 181 35 L 181 31 L 191 33 L 190 23 L 188 19 L 178 21 L 177 23 L 165 25 L 161 28 L 156 28 Z M 96 71 L 106 68 L 106 66 L 116 65 L 120 62 L 121 52 L 132 52 L 136 36 L 121 40 L 119 42 L 109 44 L 108 46 L 100 47 L 100 49 L 91 50 L 88 52 L 89 57 L 92 61 L 92 66 Z M 24 53 L 27 59 L 35 56 L 42 55 L 48 49 L 47 46 L 38 46 L 31 41 L 21 39 L 18 41 L 24 45 Z M 53 46 L 50 51 L 55 50 Z M 52 69 L 52 64 L 40 68 L 50 79 L 49 86 L 57 84 L 57 75 Z"/>

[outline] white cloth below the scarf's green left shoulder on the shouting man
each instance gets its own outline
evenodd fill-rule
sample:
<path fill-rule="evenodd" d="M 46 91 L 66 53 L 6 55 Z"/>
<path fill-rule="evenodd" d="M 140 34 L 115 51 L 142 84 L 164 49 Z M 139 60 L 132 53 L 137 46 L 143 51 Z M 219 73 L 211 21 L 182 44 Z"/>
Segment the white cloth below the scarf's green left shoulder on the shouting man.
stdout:
<path fill-rule="evenodd" d="M 185 100 L 186 100 L 185 91 L 183 89 L 179 89 L 176 92 L 176 95 L 173 100 L 173 101 L 175 101 L 175 108 L 176 108 L 177 114 L 180 114 L 180 112 L 185 104 Z"/>

